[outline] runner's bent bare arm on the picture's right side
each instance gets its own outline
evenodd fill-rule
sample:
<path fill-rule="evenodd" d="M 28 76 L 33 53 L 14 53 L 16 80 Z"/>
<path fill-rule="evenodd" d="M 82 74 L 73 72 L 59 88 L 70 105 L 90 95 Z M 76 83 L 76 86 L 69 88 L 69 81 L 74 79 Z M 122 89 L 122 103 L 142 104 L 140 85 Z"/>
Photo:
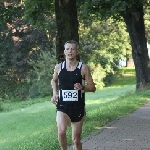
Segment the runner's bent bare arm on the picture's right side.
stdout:
<path fill-rule="evenodd" d="M 82 66 L 82 74 L 84 75 L 85 81 L 87 83 L 84 88 L 85 92 L 95 92 L 96 91 L 95 83 L 93 82 L 89 67 L 85 64 L 83 64 Z"/>

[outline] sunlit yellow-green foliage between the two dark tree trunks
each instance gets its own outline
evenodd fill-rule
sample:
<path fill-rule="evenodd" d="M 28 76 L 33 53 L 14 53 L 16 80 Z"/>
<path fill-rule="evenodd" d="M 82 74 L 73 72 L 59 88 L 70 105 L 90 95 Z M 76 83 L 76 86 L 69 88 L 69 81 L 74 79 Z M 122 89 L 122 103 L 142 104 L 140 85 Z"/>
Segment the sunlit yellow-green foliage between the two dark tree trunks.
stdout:
<path fill-rule="evenodd" d="M 131 57 L 129 36 L 123 22 L 94 21 L 86 19 L 80 23 L 81 59 L 85 63 L 102 67 L 100 83 L 109 85 L 117 69 L 119 59 Z M 103 79 L 102 79 L 103 78 Z M 101 84 L 102 85 L 102 84 Z M 102 86 L 101 86 L 102 87 Z"/>

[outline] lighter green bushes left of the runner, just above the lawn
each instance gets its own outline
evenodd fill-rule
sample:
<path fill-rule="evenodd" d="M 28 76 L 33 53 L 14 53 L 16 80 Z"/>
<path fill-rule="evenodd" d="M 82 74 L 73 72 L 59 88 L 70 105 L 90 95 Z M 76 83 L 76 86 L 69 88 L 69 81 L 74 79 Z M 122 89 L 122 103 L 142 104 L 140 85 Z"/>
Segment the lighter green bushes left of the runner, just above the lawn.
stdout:
<path fill-rule="evenodd" d="M 37 60 L 28 63 L 31 69 L 24 78 L 13 78 L 9 74 L 0 76 L 0 99 L 20 101 L 52 94 L 51 79 L 56 64 L 54 54 L 42 51 Z"/>

